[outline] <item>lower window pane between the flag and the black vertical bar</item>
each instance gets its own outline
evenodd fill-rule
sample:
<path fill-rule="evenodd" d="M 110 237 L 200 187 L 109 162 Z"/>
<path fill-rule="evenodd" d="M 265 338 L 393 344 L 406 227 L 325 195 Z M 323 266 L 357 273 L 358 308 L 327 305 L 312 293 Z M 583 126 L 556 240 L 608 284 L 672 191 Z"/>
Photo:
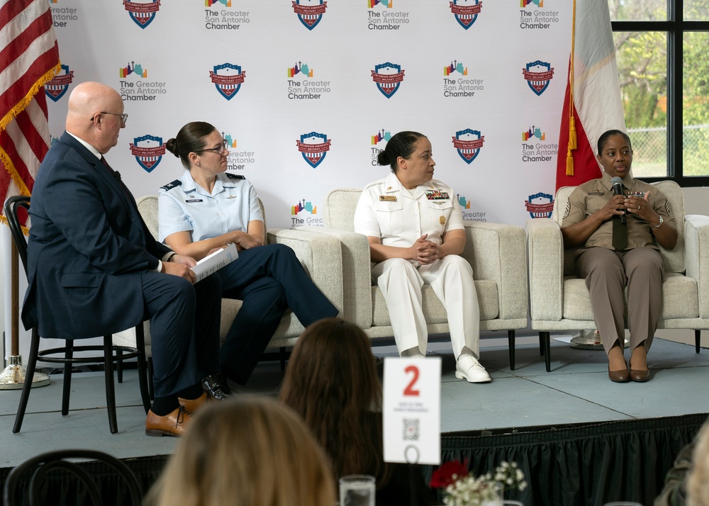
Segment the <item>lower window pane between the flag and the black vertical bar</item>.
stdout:
<path fill-rule="evenodd" d="M 614 32 L 613 39 L 625 126 L 632 141 L 632 174 L 666 177 L 667 35 Z"/>

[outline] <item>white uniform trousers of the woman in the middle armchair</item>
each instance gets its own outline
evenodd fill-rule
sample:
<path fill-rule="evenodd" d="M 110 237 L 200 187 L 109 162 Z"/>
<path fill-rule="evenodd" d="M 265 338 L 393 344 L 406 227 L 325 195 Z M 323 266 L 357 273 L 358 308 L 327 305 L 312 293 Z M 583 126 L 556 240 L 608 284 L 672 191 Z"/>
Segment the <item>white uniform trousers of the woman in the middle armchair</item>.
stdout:
<path fill-rule="evenodd" d="M 467 260 L 448 255 L 430 265 L 415 267 L 408 260 L 393 258 L 374 264 L 372 277 L 389 308 L 399 354 L 413 347 L 426 354 L 428 329 L 423 317 L 421 288 L 428 284 L 447 312 L 455 358 L 464 347 L 479 358 L 480 308 L 473 269 Z"/>

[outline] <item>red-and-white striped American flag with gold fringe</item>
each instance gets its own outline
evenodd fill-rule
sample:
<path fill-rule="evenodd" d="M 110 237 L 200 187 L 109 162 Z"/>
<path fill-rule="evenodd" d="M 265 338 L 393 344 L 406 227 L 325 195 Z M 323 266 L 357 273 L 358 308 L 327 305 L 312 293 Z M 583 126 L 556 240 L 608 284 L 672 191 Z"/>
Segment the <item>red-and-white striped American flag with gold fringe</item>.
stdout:
<path fill-rule="evenodd" d="M 44 84 L 60 70 L 48 0 L 0 0 L 0 198 L 30 195 L 49 150 Z M 5 217 L 0 216 L 5 222 Z"/>

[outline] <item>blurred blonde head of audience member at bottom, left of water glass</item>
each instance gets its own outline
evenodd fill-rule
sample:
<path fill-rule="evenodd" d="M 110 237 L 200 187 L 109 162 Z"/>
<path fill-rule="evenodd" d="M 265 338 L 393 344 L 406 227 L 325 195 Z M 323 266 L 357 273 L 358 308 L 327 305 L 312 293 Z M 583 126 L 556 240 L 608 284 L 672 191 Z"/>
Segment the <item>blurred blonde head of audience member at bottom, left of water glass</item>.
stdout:
<path fill-rule="evenodd" d="M 335 488 L 303 420 L 276 400 L 246 396 L 202 408 L 147 504 L 333 506 Z"/>

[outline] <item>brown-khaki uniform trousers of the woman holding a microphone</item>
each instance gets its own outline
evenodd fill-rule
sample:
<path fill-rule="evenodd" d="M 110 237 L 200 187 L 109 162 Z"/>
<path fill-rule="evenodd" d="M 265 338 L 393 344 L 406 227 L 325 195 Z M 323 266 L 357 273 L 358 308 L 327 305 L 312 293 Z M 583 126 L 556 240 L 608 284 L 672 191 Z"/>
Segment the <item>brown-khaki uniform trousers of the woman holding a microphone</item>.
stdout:
<path fill-rule="evenodd" d="M 664 280 L 664 265 L 657 249 L 640 247 L 616 252 L 592 247 L 580 249 L 576 255 L 576 271 L 586 279 L 605 352 L 625 340 L 626 285 L 630 349 L 644 342 L 645 350 L 649 350 L 657 330 Z"/>

